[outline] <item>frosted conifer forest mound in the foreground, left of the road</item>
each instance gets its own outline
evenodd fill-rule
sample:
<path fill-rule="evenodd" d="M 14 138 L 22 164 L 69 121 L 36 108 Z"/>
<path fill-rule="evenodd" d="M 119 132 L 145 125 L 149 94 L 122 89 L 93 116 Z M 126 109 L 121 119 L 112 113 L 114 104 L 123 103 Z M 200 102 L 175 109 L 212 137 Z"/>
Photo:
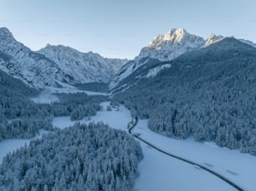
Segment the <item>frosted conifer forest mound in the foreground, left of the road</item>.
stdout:
<path fill-rule="evenodd" d="M 55 129 L 3 158 L 0 190 L 128 191 L 139 175 L 139 143 L 103 123 Z"/>

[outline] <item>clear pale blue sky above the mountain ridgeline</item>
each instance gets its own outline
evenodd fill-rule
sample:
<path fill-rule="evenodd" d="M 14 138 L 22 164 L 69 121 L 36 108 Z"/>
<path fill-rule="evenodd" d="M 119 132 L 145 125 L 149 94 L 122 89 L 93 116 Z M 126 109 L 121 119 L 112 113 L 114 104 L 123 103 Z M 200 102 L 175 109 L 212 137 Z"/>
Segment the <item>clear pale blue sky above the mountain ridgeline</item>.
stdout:
<path fill-rule="evenodd" d="M 256 0 L 0 0 L 0 27 L 33 50 L 63 44 L 134 58 L 170 28 L 256 43 Z"/>

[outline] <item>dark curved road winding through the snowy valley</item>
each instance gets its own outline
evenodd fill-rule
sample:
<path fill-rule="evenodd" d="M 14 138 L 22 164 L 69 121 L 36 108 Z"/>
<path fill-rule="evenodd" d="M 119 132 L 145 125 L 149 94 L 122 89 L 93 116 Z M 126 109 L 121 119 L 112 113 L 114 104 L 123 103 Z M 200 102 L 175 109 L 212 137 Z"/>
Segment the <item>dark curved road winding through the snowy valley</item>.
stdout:
<path fill-rule="evenodd" d="M 134 123 L 129 123 L 129 124 L 128 124 L 128 132 L 129 132 L 133 137 L 135 137 L 135 138 L 137 138 L 138 140 L 140 140 L 141 142 L 146 143 L 147 145 L 151 146 L 151 148 L 155 148 L 157 151 L 159 151 L 159 152 L 161 152 L 161 153 L 164 153 L 164 154 L 166 154 L 166 155 L 168 155 L 168 156 L 170 156 L 170 157 L 172 157 L 172 158 L 177 158 L 178 160 L 182 160 L 182 161 L 185 162 L 185 163 L 190 163 L 190 164 L 192 164 L 192 165 L 194 165 L 194 166 L 200 167 L 200 168 L 202 168 L 203 170 L 207 171 L 208 173 L 212 173 L 212 175 L 214 175 L 214 176 L 216 176 L 216 177 L 218 177 L 218 178 L 221 178 L 224 182 L 228 183 L 230 186 L 232 186 L 233 188 L 236 188 L 236 189 L 239 190 L 239 191 L 246 191 L 244 188 L 241 188 L 241 187 L 238 186 L 236 183 L 233 183 L 232 181 L 230 181 L 228 178 L 223 177 L 223 175 L 221 175 L 221 174 L 219 174 L 219 173 L 216 173 L 216 172 L 212 171 L 211 169 L 202 166 L 202 165 L 199 164 L 199 163 L 192 162 L 191 160 L 187 160 L 186 158 L 179 157 L 179 156 L 177 156 L 177 155 L 175 155 L 175 154 L 172 154 L 172 153 L 167 153 L 166 151 L 161 150 L 161 148 L 157 148 L 157 147 L 156 147 L 155 145 L 153 145 L 152 143 L 147 142 L 145 139 L 141 138 L 140 135 L 132 133 L 131 130 L 132 130 L 133 128 L 135 128 L 137 122 L 138 122 L 138 118 L 136 117 Z"/>

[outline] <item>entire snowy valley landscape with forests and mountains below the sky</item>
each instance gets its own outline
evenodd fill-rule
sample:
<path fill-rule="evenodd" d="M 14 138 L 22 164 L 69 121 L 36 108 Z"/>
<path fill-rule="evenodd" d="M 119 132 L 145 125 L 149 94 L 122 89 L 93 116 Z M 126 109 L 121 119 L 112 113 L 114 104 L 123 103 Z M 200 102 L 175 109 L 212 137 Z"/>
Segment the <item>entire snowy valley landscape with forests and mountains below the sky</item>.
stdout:
<path fill-rule="evenodd" d="M 256 44 L 173 28 L 133 60 L 0 28 L 0 191 L 254 191 Z"/>

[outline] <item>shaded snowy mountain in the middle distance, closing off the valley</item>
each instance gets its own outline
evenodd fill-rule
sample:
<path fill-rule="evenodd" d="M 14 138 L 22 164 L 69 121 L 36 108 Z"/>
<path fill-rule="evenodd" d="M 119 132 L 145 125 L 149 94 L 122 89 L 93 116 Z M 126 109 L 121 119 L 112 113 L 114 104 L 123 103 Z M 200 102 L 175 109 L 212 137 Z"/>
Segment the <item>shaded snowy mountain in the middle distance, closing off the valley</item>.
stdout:
<path fill-rule="evenodd" d="M 62 45 L 47 45 L 37 53 L 44 54 L 57 63 L 60 70 L 74 83 L 109 82 L 127 59 L 103 58 L 98 53 L 80 53 Z"/>

